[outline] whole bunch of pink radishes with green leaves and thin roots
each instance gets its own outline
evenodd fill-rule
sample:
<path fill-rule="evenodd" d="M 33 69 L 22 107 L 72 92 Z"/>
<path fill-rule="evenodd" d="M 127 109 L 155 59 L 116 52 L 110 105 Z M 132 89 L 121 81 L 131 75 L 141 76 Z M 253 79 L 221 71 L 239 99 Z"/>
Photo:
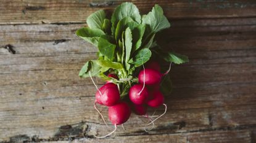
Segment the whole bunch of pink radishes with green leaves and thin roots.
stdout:
<path fill-rule="evenodd" d="M 76 35 L 95 45 L 99 52 L 97 60 L 85 63 L 79 76 L 91 78 L 97 88 L 94 108 L 101 114 L 96 104 L 107 106 L 109 120 L 115 126 L 114 131 L 102 137 L 114 133 L 117 125 L 123 125 L 131 110 L 149 118 L 147 125 L 154 125 L 167 111 L 164 95 L 170 95 L 171 63 L 188 62 L 187 56 L 169 52 L 155 41 L 156 33 L 170 27 L 163 9 L 155 4 L 149 14 L 141 16 L 133 3 L 124 2 L 114 10 L 111 20 L 104 10 L 98 10 L 86 23 L 88 26 L 78 29 Z M 159 63 L 170 63 L 169 69 L 162 73 L 165 70 Z M 106 82 L 98 88 L 93 77 Z M 165 112 L 151 120 L 147 108 L 161 105 L 165 106 Z M 102 114 L 101 117 L 104 120 Z"/>

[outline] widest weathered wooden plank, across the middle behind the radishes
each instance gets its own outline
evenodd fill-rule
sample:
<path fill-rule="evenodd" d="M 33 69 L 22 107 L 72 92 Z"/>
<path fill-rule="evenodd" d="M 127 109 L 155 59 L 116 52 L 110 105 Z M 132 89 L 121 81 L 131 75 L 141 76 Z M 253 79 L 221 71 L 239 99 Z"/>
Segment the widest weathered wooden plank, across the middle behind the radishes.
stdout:
<path fill-rule="evenodd" d="M 149 134 L 167 133 L 173 142 L 183 142 L 180 133 L 255 126 L 255 18 L 174 20 L 173 25 L 159 35 L 160 42 L 188 55 L 191 61 L 171 69 L 174 86 L 167 97 L 168 112 Z M 68 140 L 111 130 L 105 129 L 93 109 L 96 89 L 91 80 L 77 76 L 83 63 L 95 58 L 97 52 L 73 34 L 80 26 L 0 26 L 1 47 L 11 44 L 16 51 L 14 55 L 0 48 L 0 141 L 19 138 L 19 134 L 23 138 Z M 68 41 L 54 45 L 59 39 Z M 107 117 L 107 109 L 99 109 Z M 151 109 L 149 114 L 153 112 Z M 162 112 L 160 108 L 156 114 Z M 147 134 L 142 126 L 146 122 L 146 118 L 133 115 L 125 123 L 126 131 L 118 126 L 117 139 Z M 241 136 L 238 133 L 220 131 L 216 136 L 233 135 L 226 142 L 248 142 L 247 131 Z M 211 134 L 202 134 L 202 141 L 218 142 Z M 138 136 L 138 141 L 144 137 Z M 196 133 L 186 139 L 200 142 Z"/>

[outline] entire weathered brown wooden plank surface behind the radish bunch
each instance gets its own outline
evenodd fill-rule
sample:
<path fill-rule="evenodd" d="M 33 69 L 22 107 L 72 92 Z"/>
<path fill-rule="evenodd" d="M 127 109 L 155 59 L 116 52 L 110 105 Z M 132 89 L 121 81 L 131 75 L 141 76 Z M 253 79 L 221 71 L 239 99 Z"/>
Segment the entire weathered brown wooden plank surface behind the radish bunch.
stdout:
<path fill-rule="evenodd" d="M 152 131 L 132 115 L 105 139 L 93 137 L 111 130 L 93 109 L 96 89 L 78 77 L 97 49 L 74 33 L 123 1 L 0 2 L 0 142 L 256 142 L 255 0 L 133 1 L 143 14 L 163 7 L 172 26 L 160 40 L 190 62 L 171 69 L 168 111 Z"/>

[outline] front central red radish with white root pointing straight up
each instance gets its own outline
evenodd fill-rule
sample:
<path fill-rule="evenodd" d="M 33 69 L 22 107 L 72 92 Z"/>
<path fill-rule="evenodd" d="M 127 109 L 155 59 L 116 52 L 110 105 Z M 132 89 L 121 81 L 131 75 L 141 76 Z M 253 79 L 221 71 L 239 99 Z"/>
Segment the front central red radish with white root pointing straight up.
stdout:
<path fill-rule="evenodd" d="M 129 98 L 134 104 L 143 104 L 147 101 L 149 92 L 142 84 L 133 85 L 129 91 Z"/>

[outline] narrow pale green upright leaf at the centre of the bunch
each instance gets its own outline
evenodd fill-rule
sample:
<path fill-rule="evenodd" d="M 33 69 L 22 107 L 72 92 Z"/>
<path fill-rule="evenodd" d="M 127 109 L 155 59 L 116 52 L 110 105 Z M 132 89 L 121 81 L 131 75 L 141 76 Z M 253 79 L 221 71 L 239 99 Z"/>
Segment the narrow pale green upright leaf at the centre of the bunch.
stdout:
<path fill-rule="evenodd" d="M 128 61 L 130 60 L 130 55 L 131 55 L 131 48 L 133 46 L 133 43 L 131 42 L 133 40 L 132 35 L 131 35 L 131 29 L 126 28 L 125 30 L 125 66 L 126 69 L 130 69 L 130 64 Z"/>

